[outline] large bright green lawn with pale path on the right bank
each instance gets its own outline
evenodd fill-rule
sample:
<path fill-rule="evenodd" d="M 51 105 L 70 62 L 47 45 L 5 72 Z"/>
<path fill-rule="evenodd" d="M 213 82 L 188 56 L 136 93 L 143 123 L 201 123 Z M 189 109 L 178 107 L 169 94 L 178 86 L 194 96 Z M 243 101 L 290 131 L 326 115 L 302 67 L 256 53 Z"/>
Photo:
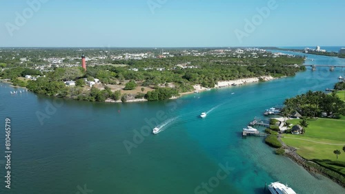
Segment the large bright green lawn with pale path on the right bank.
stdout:
<path fill-rule="evenodd" d="M 291 123 L 298 124 L 300 120 L 290 120 Z M 345 117 L 339 120 L 319 118 L 308 120 L 305 135 L 284 134 L 282 140 L 289 146 L 298 149 L 297 153 L 303 158 L 337 160 L 333 153 L 339 149 L 339 161 L 345 162 L 345 153 L 342 147 L 345 145 Z"/>

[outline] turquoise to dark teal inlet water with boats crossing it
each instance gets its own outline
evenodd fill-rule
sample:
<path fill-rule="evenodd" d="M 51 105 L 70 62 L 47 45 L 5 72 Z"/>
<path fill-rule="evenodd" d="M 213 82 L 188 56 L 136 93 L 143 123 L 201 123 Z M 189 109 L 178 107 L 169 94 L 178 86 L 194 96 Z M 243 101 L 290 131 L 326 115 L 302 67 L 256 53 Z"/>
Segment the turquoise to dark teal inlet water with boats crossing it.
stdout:
<path fill-rule="evenodd" d="M 345 64 L 309 57 L 313 63 Z M 308 69 L 266 83 L 127 104 L 57 101 L 30 92 L 11 96 L 16 89 L 0 83 L 0 118 L 12 120 L 13 151 L 10 190 L 0 159 L 0 193 L 81 193 L 85 184 L 92 193 L 267 193 L 265 182 L 277 180 L 297 193 L 344 193 L 331 180 L 273 154 L 263 138 L 241 137 L 255 116 L 265 119 L 264 109 L 309 89 L 333 87 L 341 74 L 340 68 Z M 201 119 L 203 111 L 208 116 Z M 40 122 L 37 113 L 49 118 Z M 162 125 L 161 133 L 146 136 L 146 129 Z M 135 135 L 141 129 L 145 136 Z M 4 139 L 1 129 L 0 144 Z M 212 186 L 202 188 L 209 181 Z"/>

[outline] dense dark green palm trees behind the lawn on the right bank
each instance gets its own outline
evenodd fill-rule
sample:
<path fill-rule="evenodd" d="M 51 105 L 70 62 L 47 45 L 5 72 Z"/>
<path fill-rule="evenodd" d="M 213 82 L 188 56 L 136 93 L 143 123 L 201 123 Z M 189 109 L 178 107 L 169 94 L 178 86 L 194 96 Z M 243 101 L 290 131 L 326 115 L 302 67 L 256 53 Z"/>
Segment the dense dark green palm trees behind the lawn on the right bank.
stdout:
<path fill-rule="evenodd" d="M 345 103 L 335 92 L 325 94 L 322 91 L 308 91 L 306 94 L 286 99 L 284 105 L 284 111 L 288 114 L 297 111 L 302 116 L 315 117 L 326 113 L 333 118 L 345 115 Z"/>

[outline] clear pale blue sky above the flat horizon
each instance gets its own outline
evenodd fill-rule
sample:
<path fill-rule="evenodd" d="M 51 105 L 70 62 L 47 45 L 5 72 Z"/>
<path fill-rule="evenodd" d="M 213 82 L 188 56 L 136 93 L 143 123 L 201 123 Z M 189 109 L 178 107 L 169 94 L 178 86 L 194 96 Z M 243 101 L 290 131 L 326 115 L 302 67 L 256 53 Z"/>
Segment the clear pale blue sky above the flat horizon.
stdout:
<path fill-rule="evenodd" d="M 0 5 L 0 47 L 345 45 L 343 0 L 1 0 Z"/>

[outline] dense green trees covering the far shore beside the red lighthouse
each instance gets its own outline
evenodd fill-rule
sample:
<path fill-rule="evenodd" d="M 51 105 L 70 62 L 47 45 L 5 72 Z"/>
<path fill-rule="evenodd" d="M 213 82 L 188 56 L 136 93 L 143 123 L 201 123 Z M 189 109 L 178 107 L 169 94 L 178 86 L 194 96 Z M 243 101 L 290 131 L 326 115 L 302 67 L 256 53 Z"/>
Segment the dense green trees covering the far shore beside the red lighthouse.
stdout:
<path fill-rule="evenodd" d="M 164 100 L 177 96 L 179 92 L 193 91 L 193 85 L 214 87 L 218 81 L 234 80 L 258 76 L 293 76 L 296 72 L 304 70 L 301 57 L 263 56 L 259 58 L 238 58 L 233 56 L 175 56 L 168 58 L 146 58 L 143 60 L 124 60 L 114 63 L 127 64 L 126 67 L 118 65 L 96 65 L 88 67 L 84 72 L 81 67 L 59 67 L 51 72 L 44 72 L 45 77 L 29 80 L 28 83 L 19 80 L 25 75 L 43 76 L 35 69 L 17 67 L 4 69 L 0 73 L 2 78 L 10 78 L 14 85 L 28 87 L 31 91 L 48 96 L 60 96 L 78 100 L 104 101 L 107 98 L 126 101 L 128 98 L 142 98 L 148 100 Z M 182 65 L 179 65 L 182 64 Z M 185 67 L 185 68 L 182 68 Z M 137 70 L 133 70 L 137 68 Z M 82 78 L 93 80 L 99 78 L 103 85 L 124 85 L 125 89 L 135 89 L 141 85 L 156 89 L 148 94 L 115 94 L 110 89 L 100 90 L 92 88 L 83 89 L 85 85 Z M 76 87 L 65 87 L 63 82 L 75 80 Z M 127 80 L 131 80 L 129 83 Z M 172 83 L 173 87 L 161 87 Z M 175 87 L 174 87 L 175 86 Z M 125 97 L 124 97 L 125 96 Z"/>

